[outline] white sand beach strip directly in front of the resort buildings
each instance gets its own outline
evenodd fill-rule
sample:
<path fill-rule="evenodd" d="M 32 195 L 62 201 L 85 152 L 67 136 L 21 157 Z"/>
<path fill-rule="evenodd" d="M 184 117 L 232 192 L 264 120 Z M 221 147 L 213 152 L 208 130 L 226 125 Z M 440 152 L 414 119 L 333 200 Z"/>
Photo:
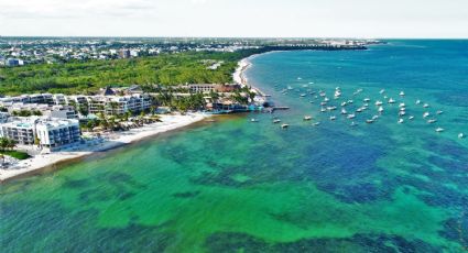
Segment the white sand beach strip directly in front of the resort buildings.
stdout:
<path fill-rule="evenodd" d="M 126 132 L 115 132 L 109 136 L 106 136 L 100 142 L 87 142 L 85 144 L 76 145 L 73 148 L 68 148 L 69 151 L 39 154 L 29 160 L 19 161 L 8 168 L 0 168 L 0 182 L 48 167 L 59 162 L 83 157 L 95 152 L 104 152 L 140 141 L 152 135 L 156 135 L 159 133 L 187 127 L 208 117 L 208 114 L 204 113 L 191 113 L 186 116 L 161 116 L 162 122 L 148 124 L 142 128 L 132 129 Z"/>

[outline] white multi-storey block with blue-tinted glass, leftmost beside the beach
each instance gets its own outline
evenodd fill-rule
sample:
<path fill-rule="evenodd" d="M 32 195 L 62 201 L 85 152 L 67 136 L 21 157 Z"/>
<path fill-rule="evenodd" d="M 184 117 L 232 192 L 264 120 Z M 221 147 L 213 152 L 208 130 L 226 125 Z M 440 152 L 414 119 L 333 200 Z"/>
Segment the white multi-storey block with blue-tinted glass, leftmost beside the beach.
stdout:
<path fill-rule="evenodd" d="M 55 148 L 78 143 L 81 132 L 78 120 L 29 117 L 1 123 L 0 136 L 14 140 L 21 145 L 40 144 Z"/>

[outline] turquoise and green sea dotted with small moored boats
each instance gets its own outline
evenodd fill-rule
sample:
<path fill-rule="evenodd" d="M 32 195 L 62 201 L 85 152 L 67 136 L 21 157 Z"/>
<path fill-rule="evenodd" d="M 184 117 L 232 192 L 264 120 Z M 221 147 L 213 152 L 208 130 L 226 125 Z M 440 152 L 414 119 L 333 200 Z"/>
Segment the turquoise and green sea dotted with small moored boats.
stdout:
<path fill-rule="evenodd" d="M 2 184 L 1 252 L 468 249 L 468 139 L 458 139 L 468 134 L 468 41 L 390 41 L 251 62 L 249 81 L 291 110 L 217 118 Z M 336 111 L 320 112 L 319 90 Z M 383 96 L 396 103 L 366 123 Z M 353 100 L 345 107 L 351 112 L 364 98 L 369 109 L 350 127 L 341 102 Z M 406 116 L 398 123 L 401 102 Z"/>

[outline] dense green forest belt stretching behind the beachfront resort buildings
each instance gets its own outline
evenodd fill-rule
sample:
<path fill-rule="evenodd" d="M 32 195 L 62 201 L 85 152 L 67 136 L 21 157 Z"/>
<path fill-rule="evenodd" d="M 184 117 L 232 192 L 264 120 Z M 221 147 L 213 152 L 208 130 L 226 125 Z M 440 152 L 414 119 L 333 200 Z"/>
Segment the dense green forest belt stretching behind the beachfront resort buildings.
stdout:
<path fill-rule="evenodd" d="M 185 52 L 132 59 L 39 64 L 0 68 L 0 95 L 32 92 L 89 94 L 105 86 L 224 84 L 237 62 L 255 51 Z M 217 69 L 214 61 L 224 62 Z"/>

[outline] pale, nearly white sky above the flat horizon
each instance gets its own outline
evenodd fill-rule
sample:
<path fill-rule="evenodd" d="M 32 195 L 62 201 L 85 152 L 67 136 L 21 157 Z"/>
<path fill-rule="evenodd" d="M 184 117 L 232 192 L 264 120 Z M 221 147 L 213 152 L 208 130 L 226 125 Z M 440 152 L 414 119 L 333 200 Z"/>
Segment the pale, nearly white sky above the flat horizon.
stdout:
<path fill-rule="evenodd" d="M 468 38 L 468 0 L 0 0 L 0 36 Z"/>

